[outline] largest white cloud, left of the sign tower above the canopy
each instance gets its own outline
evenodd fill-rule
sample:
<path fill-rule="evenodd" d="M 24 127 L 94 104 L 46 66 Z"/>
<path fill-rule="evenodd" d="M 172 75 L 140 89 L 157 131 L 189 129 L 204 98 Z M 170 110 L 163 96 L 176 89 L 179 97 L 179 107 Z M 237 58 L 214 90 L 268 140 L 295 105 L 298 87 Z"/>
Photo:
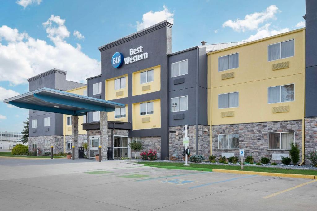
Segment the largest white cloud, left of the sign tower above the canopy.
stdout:
<path fill-rule="evenodd" d="M 64 40 L 70 34 L 64 23 L 54 15 L 43 23 L 54 45 L 8 26 L 0 27 L 0 81 L 23 84 L 27 78 L 53 68 L 66 70 L 67 79 L 77 82 L 100 74 L 99 61 L 84 54 L 79 44 L 74 47 Z M 1 43 L 1 39 L 7 43 Z"/>

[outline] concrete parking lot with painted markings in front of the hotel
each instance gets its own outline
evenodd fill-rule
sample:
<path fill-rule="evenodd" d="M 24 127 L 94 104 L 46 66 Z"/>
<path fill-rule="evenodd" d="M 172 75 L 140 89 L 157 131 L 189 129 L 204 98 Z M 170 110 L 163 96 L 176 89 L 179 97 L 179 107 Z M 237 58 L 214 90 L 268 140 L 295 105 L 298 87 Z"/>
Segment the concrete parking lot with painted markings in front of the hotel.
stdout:
<path fill-rule="evenodd" d="M 307 179 L 0 158 L 0 210 L 315 210 Z"/>

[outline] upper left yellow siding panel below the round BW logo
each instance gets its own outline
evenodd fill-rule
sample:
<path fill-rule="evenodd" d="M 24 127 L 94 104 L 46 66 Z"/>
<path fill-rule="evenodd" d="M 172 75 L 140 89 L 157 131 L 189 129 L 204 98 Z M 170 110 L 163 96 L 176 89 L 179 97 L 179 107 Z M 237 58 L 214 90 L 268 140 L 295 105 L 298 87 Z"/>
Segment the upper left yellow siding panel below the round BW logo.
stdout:
<path fill-rule="evenodd" d="M 126 88 L 114 90 L 114 80 L 126 76 Z M 123 92 L 122 95 L 120 92 Z M 123 75 L 106 80 L 106 100 L 114 100 L 128 96 L 128 75 Z"/>

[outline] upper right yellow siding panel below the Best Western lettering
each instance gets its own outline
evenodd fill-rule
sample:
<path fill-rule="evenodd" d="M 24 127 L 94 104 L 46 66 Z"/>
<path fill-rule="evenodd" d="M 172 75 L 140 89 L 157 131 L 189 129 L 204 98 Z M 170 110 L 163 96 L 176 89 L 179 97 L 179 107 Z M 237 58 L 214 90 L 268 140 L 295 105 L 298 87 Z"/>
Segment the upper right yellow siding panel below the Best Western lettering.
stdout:
<path fill-rule="evenodd" d="M 140 72 L 153 69 L 153 81 L 140 84 Z M 150 89 L 142 90 L 142 87 L 150 86 Z M 156 92 L 161 90 L 161 66 L 151 67 L 148 69 L 139 70 L 133 73 L 133 90 L 132 95 L 142 95 L 150 92 Z"/>

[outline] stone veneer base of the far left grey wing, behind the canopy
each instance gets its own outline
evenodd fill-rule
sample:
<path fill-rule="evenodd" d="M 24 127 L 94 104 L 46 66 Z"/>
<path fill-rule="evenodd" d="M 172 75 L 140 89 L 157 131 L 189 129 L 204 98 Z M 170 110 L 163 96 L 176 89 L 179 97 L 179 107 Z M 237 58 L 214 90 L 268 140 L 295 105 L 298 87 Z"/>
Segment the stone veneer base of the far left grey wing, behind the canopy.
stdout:
<path fill-rule="evenodd" d="M 29 137 L 29 151 L 32 149 L 33 141 L 37 141 L 37 148 L 41 149 L 43 152 L 50 152 L 50 146 L 53 145 L 53 153 L 64 152 L 64 136 L 63 135 L 45 135 L 45 136 L 34 136 Z M 49 141 L 49 149 L 44 149 L 44 141 Z"/>

